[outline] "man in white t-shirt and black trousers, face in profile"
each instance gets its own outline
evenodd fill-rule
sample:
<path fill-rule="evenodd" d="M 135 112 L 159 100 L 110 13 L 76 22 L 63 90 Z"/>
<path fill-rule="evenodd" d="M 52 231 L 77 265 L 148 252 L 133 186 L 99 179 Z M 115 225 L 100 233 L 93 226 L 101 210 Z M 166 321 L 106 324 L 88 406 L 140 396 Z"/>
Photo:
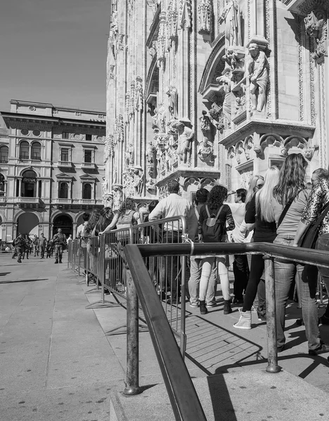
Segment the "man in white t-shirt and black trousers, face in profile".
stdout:
<path fill-rule="evenodd" d="M 234 202 L 227 203 L 230 206 L 233 220 L 236 223 L 235 229 L 231 232 L 232 243 L 243 243 L 245 241 L 245 232 L 241 231 L 240 227 L 245 221 L 245 196 L 247 190 L 238 189 L 234 193 Z M 233 262 L 234 284 L 233 284 L 233 303 L 243 304 L 243 293 L 247 288 L 249 279 L 249 267 L 247 255 L 234 255 Z"/>

